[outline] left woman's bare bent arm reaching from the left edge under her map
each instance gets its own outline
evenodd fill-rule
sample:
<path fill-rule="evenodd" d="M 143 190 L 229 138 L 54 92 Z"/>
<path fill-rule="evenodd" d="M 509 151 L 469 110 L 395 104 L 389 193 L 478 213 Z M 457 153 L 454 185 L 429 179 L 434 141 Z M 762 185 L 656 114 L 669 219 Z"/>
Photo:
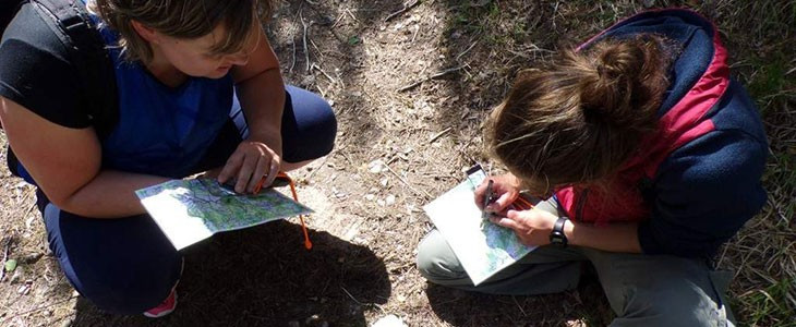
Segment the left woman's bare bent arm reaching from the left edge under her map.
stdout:
<path fill-rule="evenodd" d="M 101 147 L 94 129 L 55 124 L 2 97 L 0 122 L 25 169 L 63 210 L 102 218 L 143 214 L 134 191 L 168 180 L 100 170 Z"/>

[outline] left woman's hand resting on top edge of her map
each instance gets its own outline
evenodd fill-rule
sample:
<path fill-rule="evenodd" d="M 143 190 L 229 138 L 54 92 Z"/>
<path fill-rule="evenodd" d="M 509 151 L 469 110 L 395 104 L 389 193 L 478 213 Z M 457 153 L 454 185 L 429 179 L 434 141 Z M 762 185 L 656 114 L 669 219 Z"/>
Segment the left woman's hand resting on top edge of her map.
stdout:
<path fill-rule="evenodd" d="M 227 159 L 221 173 L 218 174 L 218 182 L 225 183 L 233 179 L 236 192 L 254 193 L 263 178 L 265 178 L 263 187 L 274 182 L 280 166 L 281 157 L 265 143 L 243 141 Z"/>

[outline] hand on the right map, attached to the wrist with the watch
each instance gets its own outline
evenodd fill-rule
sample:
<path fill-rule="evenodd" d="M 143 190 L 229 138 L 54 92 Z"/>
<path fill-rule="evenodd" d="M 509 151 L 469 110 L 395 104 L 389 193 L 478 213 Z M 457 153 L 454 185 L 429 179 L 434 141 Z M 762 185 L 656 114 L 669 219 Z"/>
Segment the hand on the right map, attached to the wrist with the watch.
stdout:
<path fill-rule="evenodd" d="M 495 225 L 512 229 L 526 245 L 548 244 L 550 233 L 557 219 L 553 214 L 538 209 L 508 210 L 506 217 L 490 218 Z"/>

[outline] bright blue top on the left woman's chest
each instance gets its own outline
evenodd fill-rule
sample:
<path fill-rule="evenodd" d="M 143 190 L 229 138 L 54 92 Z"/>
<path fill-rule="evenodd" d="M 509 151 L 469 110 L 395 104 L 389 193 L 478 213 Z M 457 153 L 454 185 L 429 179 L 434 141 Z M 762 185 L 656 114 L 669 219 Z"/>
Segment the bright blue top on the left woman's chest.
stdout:
<path fill-rule="evenodd" d="M 100 33 L 109 45 L 119 93 L 119 122 L 102 140 L 102 168 L 188 175 L 229 119 L 231 75 L 189 77 L 182 85 L 169 87 L 140 62 L 124 61 L 116 47 L 116 32 L 101 27 Z"/>

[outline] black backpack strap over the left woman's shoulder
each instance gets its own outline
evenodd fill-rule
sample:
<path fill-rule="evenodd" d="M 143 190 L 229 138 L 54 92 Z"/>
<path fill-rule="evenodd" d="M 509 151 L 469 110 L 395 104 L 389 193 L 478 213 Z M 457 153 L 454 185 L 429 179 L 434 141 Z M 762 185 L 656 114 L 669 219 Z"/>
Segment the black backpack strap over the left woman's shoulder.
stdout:
<path fill-rule="evenodd" d="M 85 104 L 97 136 L 102 140 L 119 120 L 116 75 L 105 40 L 81 0 L 32 0 L 63 44 L 76 68 Z"/>

